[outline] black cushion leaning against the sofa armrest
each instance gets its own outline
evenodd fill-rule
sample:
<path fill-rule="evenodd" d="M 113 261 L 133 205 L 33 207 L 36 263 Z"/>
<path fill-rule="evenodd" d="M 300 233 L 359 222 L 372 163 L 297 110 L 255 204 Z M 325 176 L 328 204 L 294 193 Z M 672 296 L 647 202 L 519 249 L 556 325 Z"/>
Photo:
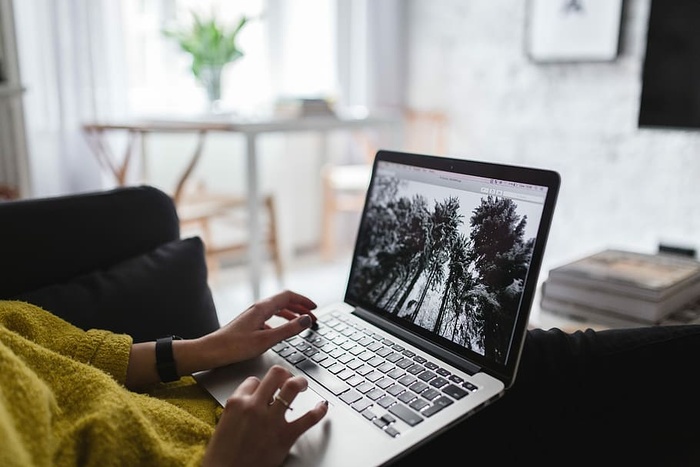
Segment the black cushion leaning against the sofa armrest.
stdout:
<path fill-rule="evenodd" d="M 219 328 L 199 237 L 165 243 L 109 268 L 15 297 L 82 329 L 129 334 L 134 342 L 195 338 Z"/>

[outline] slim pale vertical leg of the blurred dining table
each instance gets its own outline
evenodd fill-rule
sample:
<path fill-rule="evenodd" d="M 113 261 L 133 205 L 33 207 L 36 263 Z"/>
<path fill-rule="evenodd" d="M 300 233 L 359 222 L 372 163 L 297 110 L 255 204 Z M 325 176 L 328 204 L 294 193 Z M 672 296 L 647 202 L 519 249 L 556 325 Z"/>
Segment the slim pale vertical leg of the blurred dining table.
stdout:
<path fill-rule="evenodd" d="M 247 185 L 248 185 L 248 231 L 250 235 L 248 260 L 250 283 L 253 288 L 253 300 L 260 298 L 261 276 L 261 226 L 260 226 L 260 187 L 258 186 L 258 160 L 256 135 L 246 134 Z"/>

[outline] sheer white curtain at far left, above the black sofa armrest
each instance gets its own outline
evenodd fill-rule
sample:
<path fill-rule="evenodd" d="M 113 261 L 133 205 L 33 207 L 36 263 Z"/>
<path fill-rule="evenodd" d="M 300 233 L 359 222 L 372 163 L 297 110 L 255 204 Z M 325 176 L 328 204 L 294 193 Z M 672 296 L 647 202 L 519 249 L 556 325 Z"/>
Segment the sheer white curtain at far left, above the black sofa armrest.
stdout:
<path fill-rule="evenodd" d="M 120 2 L 14 3 L 33 196 L 102 187 L 81 123 L 124 111 Z"/>

